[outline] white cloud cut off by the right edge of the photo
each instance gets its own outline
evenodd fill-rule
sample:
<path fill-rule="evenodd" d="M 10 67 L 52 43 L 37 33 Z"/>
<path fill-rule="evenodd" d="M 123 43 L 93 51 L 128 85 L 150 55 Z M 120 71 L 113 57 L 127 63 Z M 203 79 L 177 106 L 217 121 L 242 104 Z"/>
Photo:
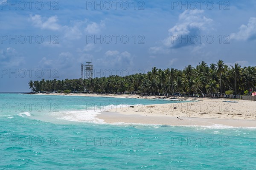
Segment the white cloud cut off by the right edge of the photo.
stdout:
<path fill-rule="evenodd" d="M 250 17 L 247 26 L 241 25 L 239 32 L 230 34 L 230 39 L 250 40 L 256 38 L 256 17 Z"/>

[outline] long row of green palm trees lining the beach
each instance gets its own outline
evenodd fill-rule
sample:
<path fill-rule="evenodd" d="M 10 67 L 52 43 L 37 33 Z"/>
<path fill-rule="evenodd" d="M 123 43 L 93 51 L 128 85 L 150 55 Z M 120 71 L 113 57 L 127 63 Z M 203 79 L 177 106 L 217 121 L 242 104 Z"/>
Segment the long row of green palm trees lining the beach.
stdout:
<path fill-rule="evenodd" d="M 152 68 L 146 74 L 133 74 L 125 77 L 109 76 L 93 79 L 65 79 L 30 81 L 31 91 L 90 91 L 101 94 L 148 94 L 174 95 L 175 93 L 189 96 L 205 96 L 216 94 L 222 96 L 225 91 L 244 94 L 245 90 L 256 86 L 256 66 L 241 68 L 225 65 L 222 60 L 209 66 L 202 61 L 194 68 L 188 65 L 183 70 L 175 68 Z"/>

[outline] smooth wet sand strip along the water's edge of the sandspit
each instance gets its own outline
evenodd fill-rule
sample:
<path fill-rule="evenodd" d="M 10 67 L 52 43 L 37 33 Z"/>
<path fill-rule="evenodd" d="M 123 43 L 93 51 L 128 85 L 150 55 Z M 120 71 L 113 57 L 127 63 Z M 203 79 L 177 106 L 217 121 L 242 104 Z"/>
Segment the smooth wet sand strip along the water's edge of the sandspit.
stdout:
<path fill-rule="evenodd" d="M 177 117 L 174 116 L 142 116 L 142 115 L 125 115 L 114 112 L 101 112 L 97 114 L 98 119 L 103 119 L 105 123 L 131 123 L 144 125 L 169 125 L 169 126 L 228 126 L 228 127 L 256 127 L 254 120 L 241 119 L 215 119 L 215 118 L 198 118 L 198 117 Z"/>

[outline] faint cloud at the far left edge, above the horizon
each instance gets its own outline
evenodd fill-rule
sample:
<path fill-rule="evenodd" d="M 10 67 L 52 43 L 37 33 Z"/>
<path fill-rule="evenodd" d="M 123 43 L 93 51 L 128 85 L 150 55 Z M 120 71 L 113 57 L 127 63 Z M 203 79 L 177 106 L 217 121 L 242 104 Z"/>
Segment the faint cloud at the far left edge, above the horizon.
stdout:
<path fill-rule="evenodd" d="M 14 67 L 24 64 L 25 59 L 14 48 L 8 47 L 0 51 L 0 63 L 2 67 Z"/>

